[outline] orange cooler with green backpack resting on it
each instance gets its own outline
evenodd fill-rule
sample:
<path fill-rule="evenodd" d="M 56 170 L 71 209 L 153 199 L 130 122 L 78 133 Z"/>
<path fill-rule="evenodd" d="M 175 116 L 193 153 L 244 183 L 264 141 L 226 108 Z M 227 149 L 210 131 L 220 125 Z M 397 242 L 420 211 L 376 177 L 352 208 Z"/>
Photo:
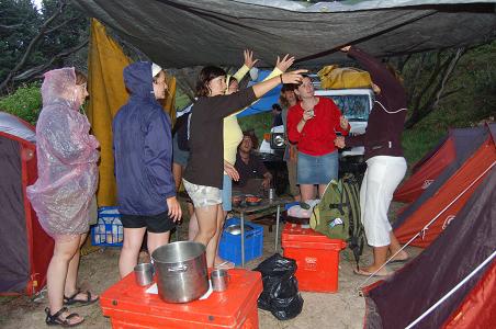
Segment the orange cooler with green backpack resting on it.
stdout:
<path fill-rule="evenodd" d="M 296 260 L 296 279 L 303 292 L 335 293 L 338 291 L 339 251 L 342 240 L 329 239 L 300 224 L 284 225 L 284 257 Z"/>

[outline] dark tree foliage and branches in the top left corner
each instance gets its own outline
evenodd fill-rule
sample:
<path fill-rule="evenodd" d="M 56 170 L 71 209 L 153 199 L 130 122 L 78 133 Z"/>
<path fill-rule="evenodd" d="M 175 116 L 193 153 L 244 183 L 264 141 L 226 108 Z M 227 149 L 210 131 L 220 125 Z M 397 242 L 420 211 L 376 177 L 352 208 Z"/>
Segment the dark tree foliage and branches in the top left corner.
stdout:
<path fill-rule="evenodd" d="M 40 35 L 43 24 L 59 12 L 63 2 L 69 4 Z M 37 79 L 46 70 L 71 66 L 74 60 L 68 60 L 68 54 L 71 54 L 68 50 L 82 44 L 89 34 L 88 18 L 67 0 L 44 0 L 41 11 L 31 0 L 2 0 L 0 25 L 0 83 L 8 81 L 2 86 L 2 92 L 5 93 L 23 82 Z M 36 38 L 34 47 L 29 50 L 30 44 Z M 15 69 L 26 54 L 26 61 Z M 14 69 L 15 79 L 7 79 Z"/>

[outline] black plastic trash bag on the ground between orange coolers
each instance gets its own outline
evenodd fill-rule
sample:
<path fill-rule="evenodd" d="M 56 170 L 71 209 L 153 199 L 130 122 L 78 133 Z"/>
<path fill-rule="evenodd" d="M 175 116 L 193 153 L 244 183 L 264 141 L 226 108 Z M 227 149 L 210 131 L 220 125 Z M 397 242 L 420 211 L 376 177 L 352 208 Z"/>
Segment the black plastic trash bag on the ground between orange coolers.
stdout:
<path fill-rule="evenodd" d="M 279 320 L 289 320 L 302 313 L 303 298 L 294 273 L 296 261 L 274 253 L 261 262 L 255 271 L 262 274 L 263 291 L 258 307 L 270 310 Z"/>

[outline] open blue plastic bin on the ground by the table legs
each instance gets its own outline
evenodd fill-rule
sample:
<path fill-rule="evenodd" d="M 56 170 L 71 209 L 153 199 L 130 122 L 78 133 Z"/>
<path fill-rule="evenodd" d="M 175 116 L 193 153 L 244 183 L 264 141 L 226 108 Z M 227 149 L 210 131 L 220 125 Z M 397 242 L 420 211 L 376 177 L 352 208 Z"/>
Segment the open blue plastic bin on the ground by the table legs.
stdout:
<path fill-rule="evenodd" d="M 241 219 L 236 217 L 227 219 L 221 236 L 221 242 L 218 243 L 218 256 L 236 265 L 241 264 L 241 235 L 229 234 L 225 228 L 230 225 L 239 225 L 240 223 Z M 262 256 L 263 227 L 245 220 L 246 226 L 252 228 L 249 231 L 245 229 L 245 262 L 248 262 Z"/>

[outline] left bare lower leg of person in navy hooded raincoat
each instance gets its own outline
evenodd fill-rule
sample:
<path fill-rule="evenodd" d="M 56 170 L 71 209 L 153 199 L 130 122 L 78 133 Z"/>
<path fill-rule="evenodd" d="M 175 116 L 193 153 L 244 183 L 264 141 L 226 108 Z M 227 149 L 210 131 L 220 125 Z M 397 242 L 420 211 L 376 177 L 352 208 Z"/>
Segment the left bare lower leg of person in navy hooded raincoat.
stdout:
<path fill-rule="evenodd" d="M 146 227 L 126 228 L 124 227 L 124 242 L 119 258 L 119 273 L 121 279 L 133 272 L 138 262 L 139 249 Z"/>

